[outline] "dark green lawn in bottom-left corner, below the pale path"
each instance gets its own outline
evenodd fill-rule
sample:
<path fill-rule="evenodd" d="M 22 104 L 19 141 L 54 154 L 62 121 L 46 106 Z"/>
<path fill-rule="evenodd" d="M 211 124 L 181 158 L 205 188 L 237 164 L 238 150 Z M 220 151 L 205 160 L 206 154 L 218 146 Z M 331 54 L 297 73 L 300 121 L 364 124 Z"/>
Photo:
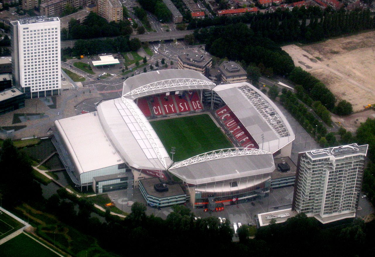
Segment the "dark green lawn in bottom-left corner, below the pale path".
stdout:
<path fill-rule="evenodd" d="M 1 256 L 3 257 L 53 257 L 58 256 L 40 243 L 26 236 L 19 234 L 9 241 L 0 245 Z"/>

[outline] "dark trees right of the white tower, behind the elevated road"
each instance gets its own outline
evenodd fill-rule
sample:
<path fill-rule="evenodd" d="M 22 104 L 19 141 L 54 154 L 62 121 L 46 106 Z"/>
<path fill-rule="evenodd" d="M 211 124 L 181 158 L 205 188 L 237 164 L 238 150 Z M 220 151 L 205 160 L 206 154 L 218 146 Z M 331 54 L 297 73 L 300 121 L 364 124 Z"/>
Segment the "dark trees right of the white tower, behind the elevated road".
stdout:
<path fill-rule="evenodd" d="M 108 23 L 105 18 L 90 12 L 82 24 L 75 19 L 69 21 L 69 28 L 61 30 L 61 40 L 126 36 L 132 32 L 133 29 L 128 20 Z"/>

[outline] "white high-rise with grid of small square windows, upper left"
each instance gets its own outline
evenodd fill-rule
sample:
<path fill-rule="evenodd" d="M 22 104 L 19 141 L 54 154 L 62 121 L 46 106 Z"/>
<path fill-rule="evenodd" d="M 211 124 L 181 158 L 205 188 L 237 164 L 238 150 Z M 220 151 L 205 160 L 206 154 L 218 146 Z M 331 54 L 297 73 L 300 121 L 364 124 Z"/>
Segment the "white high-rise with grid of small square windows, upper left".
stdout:
<path fill-rule="evenodd" d="M 45 16 L 12 21 L 12 72 L 26 98 L 59 95 L 60 20 Z"/>

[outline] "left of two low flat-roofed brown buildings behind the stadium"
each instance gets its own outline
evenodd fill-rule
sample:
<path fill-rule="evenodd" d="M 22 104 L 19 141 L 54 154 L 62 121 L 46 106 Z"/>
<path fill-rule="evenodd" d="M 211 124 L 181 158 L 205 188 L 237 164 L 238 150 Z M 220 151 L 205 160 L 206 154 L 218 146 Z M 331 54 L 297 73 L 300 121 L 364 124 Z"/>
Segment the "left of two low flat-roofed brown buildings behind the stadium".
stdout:
<path fill-rule="evenodd" d="M 208 76 L 212 67 L 212 57 L 201 53 L 186 53 L 178 56 L 177 67 L 181 70 L 193 70 Z"/>

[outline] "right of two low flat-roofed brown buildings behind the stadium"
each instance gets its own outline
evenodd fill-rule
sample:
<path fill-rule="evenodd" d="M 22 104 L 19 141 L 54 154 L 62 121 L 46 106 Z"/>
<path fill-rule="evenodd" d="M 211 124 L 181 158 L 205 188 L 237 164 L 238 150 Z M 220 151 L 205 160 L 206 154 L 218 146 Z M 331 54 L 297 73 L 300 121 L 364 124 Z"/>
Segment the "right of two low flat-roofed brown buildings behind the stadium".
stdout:
<path fill-rule="evenodd" d="M 246 71 L 236 62 L 223 62 L 219 65 L 219 71 L 224 83 L 246 82 L 248 76 Z"/>

